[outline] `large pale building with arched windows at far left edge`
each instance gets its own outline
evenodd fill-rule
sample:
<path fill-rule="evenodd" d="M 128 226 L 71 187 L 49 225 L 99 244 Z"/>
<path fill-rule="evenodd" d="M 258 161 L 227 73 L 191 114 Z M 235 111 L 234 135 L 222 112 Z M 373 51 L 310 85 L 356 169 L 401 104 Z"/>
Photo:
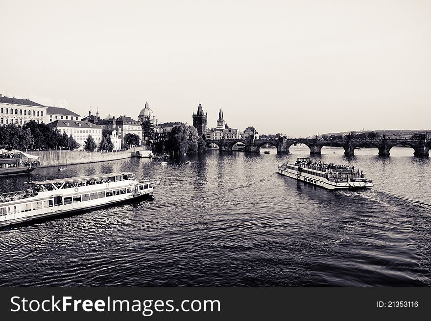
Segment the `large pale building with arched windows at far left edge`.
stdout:
<path fill-rule="evenodd" d="M 28 99 L 0 95 L 0 125 L 24 125 L 31 120 L 46 123 L 47 108 Z"/>

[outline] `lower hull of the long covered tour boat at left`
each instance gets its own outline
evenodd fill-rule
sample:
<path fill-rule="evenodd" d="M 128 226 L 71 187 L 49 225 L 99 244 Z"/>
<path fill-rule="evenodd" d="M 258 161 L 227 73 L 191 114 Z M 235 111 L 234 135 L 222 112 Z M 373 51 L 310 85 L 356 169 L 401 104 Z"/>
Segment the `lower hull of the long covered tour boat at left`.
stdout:
<path fill-rule="evenodd" d="M 144 198 L 153 198 L 153 194 L 152 193 L 144 193 L 144 194 L 137 194 L 137 195 L 129 195 L 128 198 L 119 199 L 119 200 L 112 200 L 108 203 L 101 203 L 101 204 L 90 205 L 90 206 L 87 205 L 87 206 L 83 206 L 80 208 L 72 208 L 72 209 L 64 209 L 64 210 L 62 209 L 62 210 L 58 210 L 55 212 L 36 214 L 33 216 L 20 217 L 20 218 L 0 222 L 0 228 L 10 226 L 10 225 L 22 224 L 22 223 L 33 223 L 34 221 L 37 221 L 37 220 L 49 219 L 51 217 L 57 217 L 57 216 L 61 216 L 61 215 L 85 213 L 85 212 L 89 212 L 91 210 L 95 210 L 95 209 L 99 209 L 99 208 L 105 208 L 105 207 L 111 207 L 111 206 L 119 204 L 119 203 L 137 201 L 137 200 L 144 199 Z"/>

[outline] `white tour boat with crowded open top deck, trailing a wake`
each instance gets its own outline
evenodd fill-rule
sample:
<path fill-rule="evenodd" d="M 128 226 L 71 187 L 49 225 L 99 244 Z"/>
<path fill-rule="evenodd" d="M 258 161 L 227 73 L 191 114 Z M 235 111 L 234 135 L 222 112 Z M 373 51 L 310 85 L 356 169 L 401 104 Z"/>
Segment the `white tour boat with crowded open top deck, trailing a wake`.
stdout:
<path fill-rule="evenodd" d="M 374 186 L 366 174 L 354 166 L 312 162 L 310 158 L 298 158 L 294 164 L 286 161 L 278 167 L 278 172 L 328 190 L 370 189 Z"/>

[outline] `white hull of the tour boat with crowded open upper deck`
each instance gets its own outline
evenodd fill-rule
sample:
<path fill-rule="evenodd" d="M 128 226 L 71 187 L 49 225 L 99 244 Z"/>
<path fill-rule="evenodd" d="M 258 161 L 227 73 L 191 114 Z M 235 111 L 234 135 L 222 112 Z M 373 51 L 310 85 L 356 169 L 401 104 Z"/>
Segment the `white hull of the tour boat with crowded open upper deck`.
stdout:
<path fill-rule="evenodd" d="M 374 185 L 371 182 L 332 182 L 323 177 L 314 177 L 311 175 L 298 175 L 297 172 L 288 171 L 278 168 L 278 173 L 299 181 L 303 181 L 315 186 L 323 187 L 327 190 L 361 190 L 371 189 Z"/>

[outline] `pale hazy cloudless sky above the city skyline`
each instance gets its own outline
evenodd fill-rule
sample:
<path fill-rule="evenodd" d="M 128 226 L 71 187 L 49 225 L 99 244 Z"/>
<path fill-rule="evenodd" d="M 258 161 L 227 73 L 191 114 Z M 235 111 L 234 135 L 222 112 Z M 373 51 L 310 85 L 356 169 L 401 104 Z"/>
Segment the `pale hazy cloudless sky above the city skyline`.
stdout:
<path fill-rule="evenodd" d="M 0 0 L 0 93 L 289 136 L 431 128 L 430 0 Z"/>

